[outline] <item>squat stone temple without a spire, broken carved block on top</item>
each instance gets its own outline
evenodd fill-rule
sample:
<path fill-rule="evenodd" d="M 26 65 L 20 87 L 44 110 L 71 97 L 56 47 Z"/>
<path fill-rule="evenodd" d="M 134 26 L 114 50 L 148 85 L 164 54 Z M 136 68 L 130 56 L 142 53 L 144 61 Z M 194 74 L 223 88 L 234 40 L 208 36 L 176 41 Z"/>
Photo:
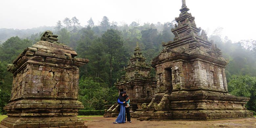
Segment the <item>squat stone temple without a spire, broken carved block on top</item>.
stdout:
<path fill-rule="evenodd" d="M 41 41 L 24 50 L 9 65 L 13 73 L 8 117 L 0 128 L 86 128 L 77 118 L 83 109 L 78 96 L 78 67 L 88 59 L 75 58 L 73 48 L 56 42 L 46 31 Z"/>

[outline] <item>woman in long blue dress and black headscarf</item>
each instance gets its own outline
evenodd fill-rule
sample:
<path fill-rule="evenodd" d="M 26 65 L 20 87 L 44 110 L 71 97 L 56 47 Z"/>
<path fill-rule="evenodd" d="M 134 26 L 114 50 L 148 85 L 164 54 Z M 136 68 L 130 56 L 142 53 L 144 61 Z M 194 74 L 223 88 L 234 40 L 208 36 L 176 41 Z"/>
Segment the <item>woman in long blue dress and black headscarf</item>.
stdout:
<path fill-rule="evenodd" d="M 125 101 L 125 97 L 124 97 L 124 92 L 120 92 L 120 94 L 117 98 L 117 103 L 120 106 L 120 112 L 116 119 L 116 122 L 113 122 L 113 123 L 125 123 L 125 106 L 124 106 L 124 104 L 126 103 L 126 101 Z"/>

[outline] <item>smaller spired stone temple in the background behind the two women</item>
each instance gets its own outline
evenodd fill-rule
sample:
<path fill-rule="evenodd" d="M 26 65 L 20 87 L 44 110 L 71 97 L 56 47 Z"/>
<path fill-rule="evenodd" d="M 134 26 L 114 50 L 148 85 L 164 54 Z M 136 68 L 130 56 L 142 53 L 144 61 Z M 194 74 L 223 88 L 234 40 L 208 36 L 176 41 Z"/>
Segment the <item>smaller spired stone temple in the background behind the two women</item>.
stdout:
<path fill-rule="evenodd" d="M 156 80 L 150 76 L 152 68 L 145 63 L 146 58 L 142 55 L 138 42 L 134 51 L 129 64 L 126 68 L 124 67 L 125 75 L 115 83 L 119 92 L 126 91 L 130 97 L 130 112 L 141 109 L 142 103 L 148 104 L 157 92 Z M 118 116 L 117 107 L 117 104 L 112 105 L 104 117 Z"/>

